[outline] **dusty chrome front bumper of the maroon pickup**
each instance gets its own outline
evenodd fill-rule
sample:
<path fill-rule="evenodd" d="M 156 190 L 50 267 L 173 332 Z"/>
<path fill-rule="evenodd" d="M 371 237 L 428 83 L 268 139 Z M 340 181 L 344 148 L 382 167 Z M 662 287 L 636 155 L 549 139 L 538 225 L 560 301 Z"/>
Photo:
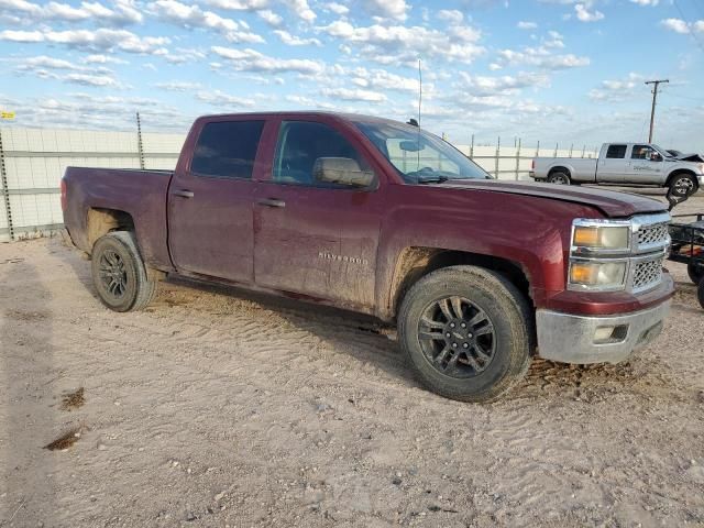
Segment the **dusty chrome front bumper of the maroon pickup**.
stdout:
<path fill-rule="evenodd" d="M 538 355 L 563 363 L 618 363 L 660 334 L 669 311 L 669 300 L 617 316 L 585 317 L 539 309 Z"/>

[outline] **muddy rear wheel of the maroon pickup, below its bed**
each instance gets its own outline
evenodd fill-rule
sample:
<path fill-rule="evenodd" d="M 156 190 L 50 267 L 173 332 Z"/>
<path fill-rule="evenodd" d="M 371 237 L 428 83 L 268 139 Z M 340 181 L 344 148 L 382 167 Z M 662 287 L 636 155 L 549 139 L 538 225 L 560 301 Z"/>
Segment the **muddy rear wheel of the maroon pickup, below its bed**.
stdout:
<path fill-rule="evenodd" d="M 146 307 L 156 294 L 130 231 L 113 231 L 98 239 L 91 254 L 92 283 L 103 305 L 114 311 Z"/>

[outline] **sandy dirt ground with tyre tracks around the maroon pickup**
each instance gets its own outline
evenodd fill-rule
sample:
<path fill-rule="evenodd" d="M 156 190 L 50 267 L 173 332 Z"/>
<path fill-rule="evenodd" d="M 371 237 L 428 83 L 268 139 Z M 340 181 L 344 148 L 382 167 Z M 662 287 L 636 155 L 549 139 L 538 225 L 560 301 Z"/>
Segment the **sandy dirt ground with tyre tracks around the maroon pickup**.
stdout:
<path fill-rule="evenodd" d="M 0 526 L 704 526 L 704 310 L 669 267 L 656 344 L 469 405 L 373 320 L 185 282 L 117 315 L 61 239 L 0 244 Z"/>

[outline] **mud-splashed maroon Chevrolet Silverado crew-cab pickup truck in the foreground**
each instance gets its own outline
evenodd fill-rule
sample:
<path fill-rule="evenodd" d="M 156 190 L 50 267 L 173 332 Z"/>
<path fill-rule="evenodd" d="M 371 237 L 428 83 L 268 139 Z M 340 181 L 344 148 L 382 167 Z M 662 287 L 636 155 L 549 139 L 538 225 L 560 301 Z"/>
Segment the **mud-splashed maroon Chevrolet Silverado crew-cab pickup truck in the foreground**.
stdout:
<path fill-rule="evenodd" d="M 625 360 L 673 293 L 661 202 L 498 182 L 418 127 L 363 116 L 200 118 L 176 170 L 69 167 L 62 202 L 113 310 L 179 274 L 371 314 L 460 400 L 498 397 L 535 354 Z"/>

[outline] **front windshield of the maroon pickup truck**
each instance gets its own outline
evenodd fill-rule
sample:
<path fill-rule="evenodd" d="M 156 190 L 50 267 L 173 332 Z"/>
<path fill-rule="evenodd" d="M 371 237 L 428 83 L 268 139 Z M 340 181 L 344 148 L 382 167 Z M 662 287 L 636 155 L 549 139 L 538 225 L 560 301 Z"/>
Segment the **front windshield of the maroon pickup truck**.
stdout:
<path fill-rule="evenodd" d="M 448 142 L 417 127 L 359 122 L 356 127 L 409 184 L 492 179 Z"/>

